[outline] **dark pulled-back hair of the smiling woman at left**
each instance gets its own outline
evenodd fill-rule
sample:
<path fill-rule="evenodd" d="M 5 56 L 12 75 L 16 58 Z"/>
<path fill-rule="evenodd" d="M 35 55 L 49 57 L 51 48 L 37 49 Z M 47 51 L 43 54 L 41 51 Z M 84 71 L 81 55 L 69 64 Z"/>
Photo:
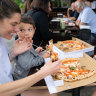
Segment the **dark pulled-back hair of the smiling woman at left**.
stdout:
<path fill-rule="evenodd" d="M 13 0 L 0 0 L 0 20 L 11 18 L 14 13 L 21 13 Z"/>

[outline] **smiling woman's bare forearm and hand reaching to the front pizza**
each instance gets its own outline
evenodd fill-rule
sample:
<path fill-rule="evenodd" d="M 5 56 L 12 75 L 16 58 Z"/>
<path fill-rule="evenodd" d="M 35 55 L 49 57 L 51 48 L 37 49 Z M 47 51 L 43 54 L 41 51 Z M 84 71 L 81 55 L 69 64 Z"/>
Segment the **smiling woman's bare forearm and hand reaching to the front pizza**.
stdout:
<path fill-rule="evenodd" d="M 39 80 L 43 79 L 49 74 L 53 74 L 60 69 L 60 60 L 52 63 L 47 62 L 40 71 L 28 76 L 24 79 L 5 83 L 0 85 L 0 95 L 1 96 L 14 96 L 22 91 L 28 89 L 33 84 L 37 83 Z"/>

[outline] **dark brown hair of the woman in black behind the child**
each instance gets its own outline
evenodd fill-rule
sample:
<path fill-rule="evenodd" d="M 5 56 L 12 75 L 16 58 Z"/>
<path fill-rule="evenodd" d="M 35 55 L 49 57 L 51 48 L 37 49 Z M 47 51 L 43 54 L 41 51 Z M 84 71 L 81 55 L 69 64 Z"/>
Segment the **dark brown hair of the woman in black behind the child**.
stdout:
<path fill-rule="evenodd" d="M 33 0 L 32 2 L 32 9 L 36 10 L 43 10 L 48 13 L 48 3 L 51 2 L 50 0 Z"/>

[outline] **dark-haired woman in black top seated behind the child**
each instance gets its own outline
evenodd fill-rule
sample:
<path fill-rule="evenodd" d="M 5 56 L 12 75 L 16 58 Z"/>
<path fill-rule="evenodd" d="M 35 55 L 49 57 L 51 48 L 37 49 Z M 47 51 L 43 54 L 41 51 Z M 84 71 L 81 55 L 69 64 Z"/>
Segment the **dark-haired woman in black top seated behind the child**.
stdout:
<path fill-rule="evenodd" d="M 37 46 L 45 46 L 48 44 L 48 41 L 52 39 L 48 22 L 48 15 L 51 12 L 50 0 L 33 0 L 30 4 L 32 9 L 26 14 L 33 18 L 36 26 L 33 43 Z"/>

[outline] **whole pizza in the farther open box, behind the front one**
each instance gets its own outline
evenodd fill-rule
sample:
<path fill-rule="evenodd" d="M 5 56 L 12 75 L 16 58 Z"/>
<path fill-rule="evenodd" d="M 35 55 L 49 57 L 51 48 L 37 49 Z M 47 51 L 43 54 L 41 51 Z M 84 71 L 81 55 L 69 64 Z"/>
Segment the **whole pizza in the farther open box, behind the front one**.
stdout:
<path fill-rule="evenodd" d="M 59 41 L 56 45 L 59 49 L 65 52 L 71 52 L 85 48 L 82 42 L 74 40 Z"/>

